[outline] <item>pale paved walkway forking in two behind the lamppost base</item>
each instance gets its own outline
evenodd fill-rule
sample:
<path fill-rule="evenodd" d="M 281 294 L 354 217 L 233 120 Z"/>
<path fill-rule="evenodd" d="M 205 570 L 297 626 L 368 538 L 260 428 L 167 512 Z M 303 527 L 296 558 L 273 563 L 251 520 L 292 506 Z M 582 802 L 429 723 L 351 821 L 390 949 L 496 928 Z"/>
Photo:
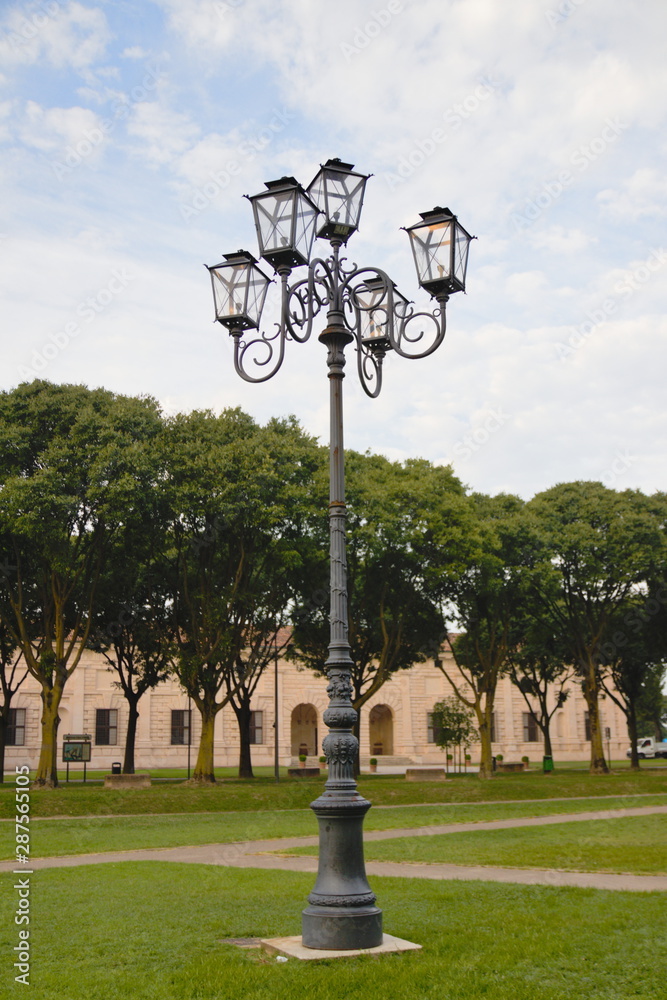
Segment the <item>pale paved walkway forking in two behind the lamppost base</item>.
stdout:
<path fill-rule="evenodd" d="M 617 819 L 624 816 L 648 816 L 667 813 L 667 806 L 638 806 L 630 809 L 606 809 L 596 812 L 560 814 L 554 816 L 521 817 L 491 820 L 482 823 L 447 823 L 410 829 L 371 830 L 366 841 L 391 840 L 396 837 L 425 837 L 470 830 L 506 830 L 522 826 L 549 826 L 557 823 L 579 823 L 586 820 Z M 316 872 L 317 858 L 289 857 L 274 852 L 294 847 L 317 846 L 315 837 L 283 837 L 274 840 L 254 840 L 233 844 L 203 844 L 199 847 L 166 847 L 134 851 L 110 851 L 104 854 L 77 854 L 58 858 L 35 858 L 30 869 L 71 868 L 119 861 L 177 861 L 190 864 L 222 865 L 234 868 L 283 869 Z M 21 866 L 13 861 L 0 863 L 0 871 L 14 871 Z M 481 880 L 515 882 L 525 885 L 583 886 L 593 889 L 622 889 L 630 892 L 667 892 L 667 875 L 629 875 L 605 872 L 570 872 L 558 869 L 500 868 L 482 865 L 413 864 L 410 862 L 369 861 L 369 875 L 389 875 L 398 878 Z"/>

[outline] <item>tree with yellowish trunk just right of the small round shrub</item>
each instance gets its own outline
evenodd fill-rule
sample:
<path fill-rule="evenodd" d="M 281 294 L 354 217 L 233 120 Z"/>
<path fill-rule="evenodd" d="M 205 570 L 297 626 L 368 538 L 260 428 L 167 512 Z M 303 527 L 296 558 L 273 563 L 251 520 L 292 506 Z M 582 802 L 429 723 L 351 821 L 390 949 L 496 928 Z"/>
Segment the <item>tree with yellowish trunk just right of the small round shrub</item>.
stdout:
<path fill-rule="evenodd" d="M 469 504 L 474 529 L 462 569 L 442 583 L 447 611 L 457 629 L 449 633 L 447 644 L 459 677 L 443 658 L 437 657 L 436 665 L 459 701 L 475 713 L 481 744 L 479 776 L 487 779 L 493 776 L 496 687 L 521 642 L 526 570 L 534 560 L 536 542 L 518 497 L 472 494 Z"/>

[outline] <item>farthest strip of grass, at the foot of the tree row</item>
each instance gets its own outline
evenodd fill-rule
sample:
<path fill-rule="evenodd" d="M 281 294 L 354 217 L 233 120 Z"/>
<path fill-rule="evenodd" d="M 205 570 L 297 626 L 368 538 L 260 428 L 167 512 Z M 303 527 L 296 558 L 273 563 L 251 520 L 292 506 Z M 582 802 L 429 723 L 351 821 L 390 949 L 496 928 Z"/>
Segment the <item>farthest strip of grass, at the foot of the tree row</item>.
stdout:
<path fill-rule="evenodd" d="M 294 778 L 276 783 L 269 777 L 225 779 L 205 788 L 185 784 L 156 784 L 147 789 L 106 789 L 77 782 L 49 790 L 34 790 L 32 816 L 138 815 L 274 809 L 302 809 L 320 793 L 320 778 Z M 592 776 L 584 771 L 553 774 L 525 772 L 497 775 L 480 781 L 460 775 L 446 782 L 410 782 L 401 775 L 363 775 L 359 790 L 375 805 L 424 802 L 502 802 L 505 800 L 658 794 L 667 792 L 667 769 L 628 769 Z M 14 815 L 14 786 L 0 788 L 0 817 Z"/>

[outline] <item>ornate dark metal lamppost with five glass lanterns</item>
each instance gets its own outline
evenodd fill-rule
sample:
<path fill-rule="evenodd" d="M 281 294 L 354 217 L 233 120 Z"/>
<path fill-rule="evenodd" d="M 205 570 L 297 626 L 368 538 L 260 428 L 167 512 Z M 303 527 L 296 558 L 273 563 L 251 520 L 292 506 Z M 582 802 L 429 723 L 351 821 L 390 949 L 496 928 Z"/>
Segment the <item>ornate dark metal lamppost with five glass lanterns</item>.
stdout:
<path fill-rule="evenodd" d="M 474 238 L 447 208 L 435 208 L 410 226 L 419 284 L 435 299 L 432 312 L 417 312 L 377 267 L 357 267 L 341 248 L 359 226 L 368 176 L 350 163 L 328 160 L 307 190 L 293 177 L 266 184 L 249 198 L 260 256 L 280 281 L 280 320 L 259 330 L 270 279 L 245 250 L 225 254 L 209 267 L 215 318 L 234 340 L 234 367 L 247 382 L 265 382 L 278 371 L 288 341 L 305 343 L 315 318 L 326 326 L 318 339 L 327 347 L 330 386 L 330 643 L 325 668 L 329 706 L 323 741 L 328 780 L 311 804 L 320 831 L 315 887 L 303 911 L 302 943 L 309 948 L 353 950 L 382 943 L 382 911 L 366 879 L 362 825 L 370 802 L 359 795 L 354 778 L 358 741 L 352 733 L 350 646 L 347 625 L 345 557 L 345 474 L 342 381 L 345 348 L 354 344 L 359 380 L 375 398 L 382 388 L 382 363 L 393 351 L 403 358 L 425 358 L 445 336 L 449 296 L 465 290 L 470 241 Z M 311 260 L 315 238 L 328 240 L 329 257 Z M 292 271 L 307 268 L 291 281 Z"/>

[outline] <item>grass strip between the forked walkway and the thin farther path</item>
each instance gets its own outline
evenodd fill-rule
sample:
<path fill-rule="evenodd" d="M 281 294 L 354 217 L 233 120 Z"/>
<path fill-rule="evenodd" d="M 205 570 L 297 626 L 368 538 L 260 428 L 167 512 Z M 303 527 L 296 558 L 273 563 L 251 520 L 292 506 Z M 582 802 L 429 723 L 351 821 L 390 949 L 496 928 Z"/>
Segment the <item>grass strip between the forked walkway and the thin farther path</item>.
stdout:
<path fill-rule="evenodd" d="M 667 805 L 667 794 L 600 799 L 571 799 L 535 803 L 415 805 L 371 809 L 365 830 L 429 827 L 440 823 L 485 822 L 521 816 L 546 816 L 632 806 Z M 177 847 L 196 844 L 299 837 L 317 834 L 310 809 L 285 811 L 118 816 L 85 819 L 44 819 L 31 829 L 31 855 L 48 857 L 123 851 L 141 847 Z M 12 856 L 13 823 L 0 823 L 0 858 Z"/>

